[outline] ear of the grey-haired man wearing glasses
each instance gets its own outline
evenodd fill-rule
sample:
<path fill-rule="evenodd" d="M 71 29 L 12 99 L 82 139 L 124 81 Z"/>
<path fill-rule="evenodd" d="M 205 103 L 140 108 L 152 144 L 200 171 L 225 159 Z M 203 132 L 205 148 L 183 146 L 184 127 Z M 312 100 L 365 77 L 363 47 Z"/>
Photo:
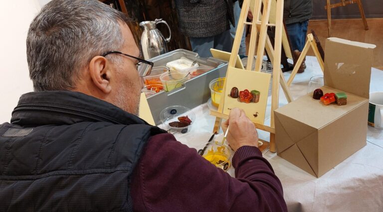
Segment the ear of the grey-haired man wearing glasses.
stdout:
<path fill-rule="evenodd" d="M 110 85 L 111 68 L 110 62 L 102 56 L 96 56 L 89 62 L 89 74 L 93 84 L 105 94 L 112 91 Z"/>

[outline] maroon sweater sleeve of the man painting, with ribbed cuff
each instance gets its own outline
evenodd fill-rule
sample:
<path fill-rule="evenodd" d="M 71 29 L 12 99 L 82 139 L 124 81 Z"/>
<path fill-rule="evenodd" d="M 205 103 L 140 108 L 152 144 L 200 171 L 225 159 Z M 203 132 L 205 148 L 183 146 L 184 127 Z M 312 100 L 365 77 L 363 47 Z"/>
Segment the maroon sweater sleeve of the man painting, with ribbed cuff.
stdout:
<path fill-rule="evenodd" d="M 282 185 L 256 147 L 233 156 L 235 178 L 181 144 L 172 134 L 153 136 L 135 168 L 134 211 L 287 211 Z"/>

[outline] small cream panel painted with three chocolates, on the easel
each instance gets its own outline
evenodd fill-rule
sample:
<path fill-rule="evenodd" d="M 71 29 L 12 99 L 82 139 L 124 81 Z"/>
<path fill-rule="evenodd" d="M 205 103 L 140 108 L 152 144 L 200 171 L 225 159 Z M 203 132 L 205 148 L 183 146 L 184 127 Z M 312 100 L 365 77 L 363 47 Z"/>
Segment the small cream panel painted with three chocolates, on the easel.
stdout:
<path fill-rule="evenodd" d="M 243 109 L 255 123 L 263 124 L 271 75 L 229 67 L 226 75 L 223 113 Z"/>

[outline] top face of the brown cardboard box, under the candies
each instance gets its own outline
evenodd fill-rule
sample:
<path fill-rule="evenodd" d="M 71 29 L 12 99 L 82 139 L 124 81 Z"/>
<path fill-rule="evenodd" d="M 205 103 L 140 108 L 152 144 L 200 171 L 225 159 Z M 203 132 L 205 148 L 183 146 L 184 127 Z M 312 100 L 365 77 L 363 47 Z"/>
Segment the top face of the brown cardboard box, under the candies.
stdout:
<path fill-rule="evenodd" d="M 324 86 L 321 89 L 324 94 L 343 92 L 327 86 Z M 348 92 L 345 93 L 347 95 L 347 105 L 344 106 L 338 106 L 335 103 L 326 106 L 322 104 L 320 100 L 314 100 L 312 98 L 312 94 L 307 94 L 294 102 L 277 108 L 275 113 L 281 121 L 284 121 L 283 119 L 289 117 L 316 129 L 320 129 L 342 115 L 369 101 L 366 98 L 359 97 Z M 282 115 L 279 115 L 278 113 Z"/>

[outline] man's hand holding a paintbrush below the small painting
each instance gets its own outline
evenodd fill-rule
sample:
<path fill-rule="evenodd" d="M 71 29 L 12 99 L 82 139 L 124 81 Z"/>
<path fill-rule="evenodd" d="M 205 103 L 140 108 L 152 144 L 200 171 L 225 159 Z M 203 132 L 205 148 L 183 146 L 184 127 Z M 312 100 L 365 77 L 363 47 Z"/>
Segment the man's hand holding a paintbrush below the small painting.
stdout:
<path fill-rule="evenodd" d="M 222 130 L 227 133 L 227 141 L 231 148 L 236 151 L 241 146 L 258 147 L 258 132 L 254 123 L 246 116 L 245 111 L 239 108 L 232 108 L 229 119 L 222 122 Z"/>

